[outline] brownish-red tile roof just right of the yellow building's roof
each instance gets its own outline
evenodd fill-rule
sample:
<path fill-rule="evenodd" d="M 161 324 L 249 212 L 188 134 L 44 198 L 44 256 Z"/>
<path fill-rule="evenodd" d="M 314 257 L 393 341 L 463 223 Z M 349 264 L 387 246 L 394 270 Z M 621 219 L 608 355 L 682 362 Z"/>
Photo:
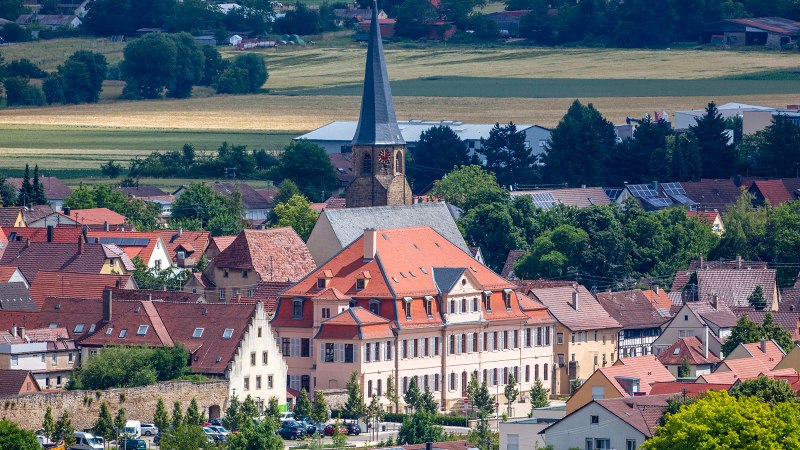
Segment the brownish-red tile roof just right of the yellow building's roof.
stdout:
<path fill-rule="evenodd" d="M 623 329 L 660 327 L 669 319 L 664 317 L 639 289 L 620 292 L 599 292 L 597 301 Z"/>

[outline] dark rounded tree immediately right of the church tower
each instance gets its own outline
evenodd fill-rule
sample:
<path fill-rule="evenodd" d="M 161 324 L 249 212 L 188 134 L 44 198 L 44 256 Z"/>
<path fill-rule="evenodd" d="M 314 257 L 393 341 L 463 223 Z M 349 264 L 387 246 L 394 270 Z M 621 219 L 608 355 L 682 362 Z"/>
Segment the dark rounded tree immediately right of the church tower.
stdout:
<path fill-rule="evenodd" d="M 426 192 L 434 181 L 454 167 L 480 164 L 475 155 L 469 155 L 467 145 L 448 126 L 423 131 L 409 155 L 411 160 L 406 164 L 406 176 L 412 182 L 414 192 Z"/>

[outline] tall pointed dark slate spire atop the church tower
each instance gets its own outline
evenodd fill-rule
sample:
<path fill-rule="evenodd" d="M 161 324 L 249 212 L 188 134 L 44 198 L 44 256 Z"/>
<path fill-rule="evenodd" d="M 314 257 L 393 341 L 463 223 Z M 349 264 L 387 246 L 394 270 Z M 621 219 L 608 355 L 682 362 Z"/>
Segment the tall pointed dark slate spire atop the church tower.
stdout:
<path fill-rule="evenodd" d="M 372 22 L 369 27 L 367 67 L 364 71 L 364 93 L 361 96 L 361 116 L 353 145 L 403 145 L 405 141 L 397 126 L 389 73 L 383 57 L 383 41 L 378 23 L 378 2 L 372 0 Z"/>

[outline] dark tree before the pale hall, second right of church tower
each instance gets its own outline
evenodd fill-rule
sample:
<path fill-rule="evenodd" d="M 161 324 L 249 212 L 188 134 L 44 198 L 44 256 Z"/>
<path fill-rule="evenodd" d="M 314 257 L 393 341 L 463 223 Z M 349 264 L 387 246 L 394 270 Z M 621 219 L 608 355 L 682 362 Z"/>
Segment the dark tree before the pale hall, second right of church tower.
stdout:
<path fill-rule="evenodd" d="M 536 180 L 536 156 L 531 154 L 525 140 L 525 132 L 517 131 L 513 122 L 502 127 L 496 123 L 489 137 L 481 138 L 478 151 L 486 157 L 486 169 L 497 175 L 501 186 L 515 188 Z"/>

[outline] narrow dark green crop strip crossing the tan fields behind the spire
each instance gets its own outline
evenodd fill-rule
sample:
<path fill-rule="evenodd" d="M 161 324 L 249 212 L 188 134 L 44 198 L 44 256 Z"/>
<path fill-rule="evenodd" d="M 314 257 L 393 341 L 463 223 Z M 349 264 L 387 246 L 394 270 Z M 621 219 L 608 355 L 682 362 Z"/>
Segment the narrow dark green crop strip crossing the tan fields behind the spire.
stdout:
<path fill-rule="evenodd" d="M 360 84 L 283 94 L 356 96 Z M 794 80 L 624 80 L 575 78 L 428 77 L 392 83 L 395 96 L 420 97 L 696 97 L 800 93 Z"/>

